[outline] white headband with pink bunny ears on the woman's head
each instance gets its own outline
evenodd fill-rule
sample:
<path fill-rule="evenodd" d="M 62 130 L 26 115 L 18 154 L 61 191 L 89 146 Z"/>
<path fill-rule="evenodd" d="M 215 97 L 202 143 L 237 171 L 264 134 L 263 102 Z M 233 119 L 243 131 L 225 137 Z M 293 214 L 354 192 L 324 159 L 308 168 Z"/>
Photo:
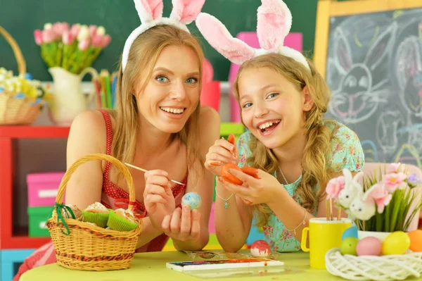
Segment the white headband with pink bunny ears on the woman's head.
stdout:
<path fill-rule="evenodd" d="M 186 25 L 196 19 L 205 0 L 172 0 L 173 10 L 169 18 L 162 17 L 162 0 L 134 0 L 134 2 L 141 25 L 132 31 L 124 43 L 122 70 L 126 67 L 130 47 L 139 35 L 156 25 L 174 25 L 189 32 Z"/>

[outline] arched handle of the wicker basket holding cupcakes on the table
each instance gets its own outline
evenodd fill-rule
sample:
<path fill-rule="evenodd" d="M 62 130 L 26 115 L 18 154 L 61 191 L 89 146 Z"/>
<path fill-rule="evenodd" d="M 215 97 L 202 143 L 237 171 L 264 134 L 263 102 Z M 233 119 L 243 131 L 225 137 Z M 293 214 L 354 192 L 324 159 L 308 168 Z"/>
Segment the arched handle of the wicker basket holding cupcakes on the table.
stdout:
<path fill-rule="evenodd" d="M 134 181 L 132 178 L 132 175 L 129 173 L 129 170 L 122 162 L 120 162 L 117 158 L 114 158 L 113 156 L 107 155 L 107 154 L 89 154 L 86 156 L 83 156 L 75 163 L 72 163 L 72 165 L 66 170 L 65 175 L 63 176 L 62 181 L 60 182 L 60 185 L 58 187 L 57 197 L 56 197 L 56 204 L 62 204 L 63 203 L 63 196 L 65 195 L 65 189 L 68 185 L 68 182 L 70 180 L 70 177 L 75 172 L 75 170 L 81 166 L 83 163 L 86 163 L 91 160 L 102 160 L 102 161 L 108 161 L 115 165 L 123 174 L 124 178 L 127 181 L 127 186 L 129 188 L 129 202 L 135 202 L 136 196 L 135 196 L 135 187 L 134 187 Z M 128 210 L 132 211 L 132 208 L 134 207 L 133 204 L 129 203 L 129 206 L 127 207 Z"/>

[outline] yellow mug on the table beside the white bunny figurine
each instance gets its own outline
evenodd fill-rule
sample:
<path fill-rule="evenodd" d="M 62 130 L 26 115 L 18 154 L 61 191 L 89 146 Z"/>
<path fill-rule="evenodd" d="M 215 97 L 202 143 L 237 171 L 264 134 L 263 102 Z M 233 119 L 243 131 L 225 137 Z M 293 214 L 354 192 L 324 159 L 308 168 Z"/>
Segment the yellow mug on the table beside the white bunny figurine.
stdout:
<path fill-rule="evenodd" d="M 352 220 L 341 218 L 326 220 L 326 218 L 311 218 L 309 227 L 302 230 L 301 248 L 309 251 L 309 263 L 312 268 L 326 268 L 325 255 L 328 250 L 340 248 L 341 237 L 347 228 L 352 226 Z M 307 237 L 309 233 L 309 248 Z"/>

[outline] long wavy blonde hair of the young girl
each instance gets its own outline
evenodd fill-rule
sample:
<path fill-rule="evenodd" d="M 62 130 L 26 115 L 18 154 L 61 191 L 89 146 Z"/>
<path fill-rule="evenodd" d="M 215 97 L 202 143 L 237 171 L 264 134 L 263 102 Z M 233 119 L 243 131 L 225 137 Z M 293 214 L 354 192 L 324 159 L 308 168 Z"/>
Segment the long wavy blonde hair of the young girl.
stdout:
<path fill-rule="evenodd" d="M 322 124 L 324 113 L 327 111 L 328 101 L 330 100 L 330 90 L 324 82 L 324 78 L 318 73 L 313 63 L 307 60 L 311 70 L 305 68 L 302 63 L 298 63 L 281 54 L 266 54 L 252 58 L 241 65 L 238 75 L 234 82 L 234 93 L 236 99 L 239 99 L 238 82 L 242 76 L 243 70 L 247 68 L 270 68 L 286 77 L 293 83 L 298 91 L 307 86 L 309 94 L 314 101 L 314 106 L 306 113 L 305 130 L 307 135 L 307 144 L 302 158 L 302 180 L 298 186 L 297 194 L 300 197 L 302 206 L 310 213 L 313 213 L 318 199 L 325 194 L 325 189 L 320 188 L 318 194 L 315 194 L 314 187 L 325 187 L 328 182 L 328 172 L 326 170 L 326 156 L 330 151 L 330 140 L 332 131 L 329 127 Z M 324 124 L 333 123 L 331 120 L 325 120 Z M 249 166 L 260 168 L 267 173 L 274 173 L 279 169 L 274 152 L 262 144 L 257 138 L 252 136 L 250 149 L 254 151 L 246 162 Z M 258 204 L 251 206 L 250 211 L 257 218 L 257 225 L 267 225 L 271 210 L 267 204 Z"/>

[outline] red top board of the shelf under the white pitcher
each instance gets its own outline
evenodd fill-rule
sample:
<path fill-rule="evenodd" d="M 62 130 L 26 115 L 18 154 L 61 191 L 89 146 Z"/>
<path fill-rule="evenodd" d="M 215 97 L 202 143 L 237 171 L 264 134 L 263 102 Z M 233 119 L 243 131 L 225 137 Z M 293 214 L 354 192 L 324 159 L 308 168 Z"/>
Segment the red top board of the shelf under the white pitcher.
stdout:
<path fill-rule="evenodd" d="M 0 126 L 0 137 L 12 139 L 43 139 L 68 137 L 70 127 Z"/>

